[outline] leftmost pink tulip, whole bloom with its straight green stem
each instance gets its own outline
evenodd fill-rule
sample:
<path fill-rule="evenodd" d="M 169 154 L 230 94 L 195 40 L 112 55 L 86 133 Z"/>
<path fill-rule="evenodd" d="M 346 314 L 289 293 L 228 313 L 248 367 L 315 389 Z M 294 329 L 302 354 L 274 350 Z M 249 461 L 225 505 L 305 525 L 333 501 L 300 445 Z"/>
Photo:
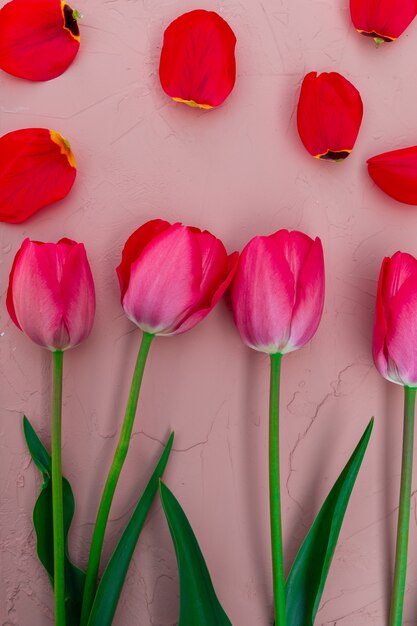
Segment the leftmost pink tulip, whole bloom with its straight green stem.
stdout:
<path fill-rule="evenodd" d="M 64 350 L 88 337 L 95 313 L 93 277 L 84 245 L 61 239 L 25 239 L 10 272 L 7 309 L 20 330 L 52 352 L 52 543 L 54 607 L 65 626 L 65 533 L 63 517 L 61 420 Z"/>

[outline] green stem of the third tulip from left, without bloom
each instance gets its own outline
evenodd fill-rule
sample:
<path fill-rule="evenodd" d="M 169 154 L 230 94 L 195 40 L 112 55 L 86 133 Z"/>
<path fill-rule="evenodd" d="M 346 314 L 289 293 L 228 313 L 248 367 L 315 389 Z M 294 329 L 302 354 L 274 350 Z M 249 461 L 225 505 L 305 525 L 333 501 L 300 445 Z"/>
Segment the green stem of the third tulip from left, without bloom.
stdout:
<path fill-rule="evenodd" d="M 286 626 L 287 624 L 279 472 L 279 383 L 281 358 L 281 354 L 271 354 L 269 396 L 269 508 L 271 517 L 275 626 Z"/>

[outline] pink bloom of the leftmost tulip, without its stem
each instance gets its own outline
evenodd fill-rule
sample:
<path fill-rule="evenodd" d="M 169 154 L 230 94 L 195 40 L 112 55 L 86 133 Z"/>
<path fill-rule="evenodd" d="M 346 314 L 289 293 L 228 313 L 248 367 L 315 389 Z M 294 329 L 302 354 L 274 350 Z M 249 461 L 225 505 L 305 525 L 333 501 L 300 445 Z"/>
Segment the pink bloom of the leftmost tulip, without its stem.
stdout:
<path fill-rule="evenodd" d="M 90 334 L 95 306 L 82 243 L 25 239 L 14 259 L 7 292 L 9 315 L 20 330 L 48 350 L 67 350 Z"/>

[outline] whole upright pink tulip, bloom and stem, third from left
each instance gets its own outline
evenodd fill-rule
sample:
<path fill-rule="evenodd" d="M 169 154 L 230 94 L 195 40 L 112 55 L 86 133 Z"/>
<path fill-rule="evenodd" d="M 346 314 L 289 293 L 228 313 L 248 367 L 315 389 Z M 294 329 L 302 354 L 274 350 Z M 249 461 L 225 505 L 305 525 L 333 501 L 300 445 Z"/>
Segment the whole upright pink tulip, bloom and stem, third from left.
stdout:
<path fill-rule="evenodd" d="M 254 237 L 232 281 L 235 324 L 243 342 L 270 355 L 269 503 L 275 624 L 287 623 L 279 461 L 279 387 L 282 355 L 314 335 L 324 304 L 320 239 L 279 230 Z"/>

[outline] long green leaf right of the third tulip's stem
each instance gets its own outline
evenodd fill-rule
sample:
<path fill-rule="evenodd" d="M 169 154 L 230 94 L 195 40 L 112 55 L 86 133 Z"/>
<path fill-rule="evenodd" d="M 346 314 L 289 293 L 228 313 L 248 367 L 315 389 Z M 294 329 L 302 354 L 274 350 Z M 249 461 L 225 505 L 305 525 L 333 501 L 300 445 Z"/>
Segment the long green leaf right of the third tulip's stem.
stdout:
<path fill-rule="evenodd" d="M 286 585 L 287 626 L 313 626 L 330 564 L 373 428 L 369 422 L 327 496 L 289 573 Z"/>

